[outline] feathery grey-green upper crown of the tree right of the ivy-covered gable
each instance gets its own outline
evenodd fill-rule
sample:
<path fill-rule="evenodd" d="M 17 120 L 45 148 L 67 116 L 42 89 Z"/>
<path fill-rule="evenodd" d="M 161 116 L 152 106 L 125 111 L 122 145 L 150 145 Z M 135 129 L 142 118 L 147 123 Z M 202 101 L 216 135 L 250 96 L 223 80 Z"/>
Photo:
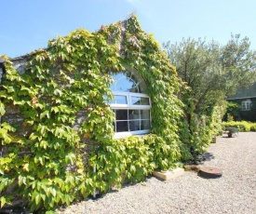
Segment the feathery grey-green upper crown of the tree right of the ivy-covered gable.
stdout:
<path fill-rule="evenodd" d="M 256 81 L 256 52 L 249 49 L 248 37 L 232 34 L 223 47 L 201 38 L 183 38 L 180 44 L 168 42 L 164 47 L 182 81 L 192 88 L 196 114 L 210 114 L 225 96 Z"/>

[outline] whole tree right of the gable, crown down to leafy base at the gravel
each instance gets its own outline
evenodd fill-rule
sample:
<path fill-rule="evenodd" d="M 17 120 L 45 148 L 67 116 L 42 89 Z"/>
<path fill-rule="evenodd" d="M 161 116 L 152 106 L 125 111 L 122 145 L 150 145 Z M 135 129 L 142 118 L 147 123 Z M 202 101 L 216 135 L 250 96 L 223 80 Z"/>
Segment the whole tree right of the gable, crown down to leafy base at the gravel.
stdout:
<path fill-rule="evenodd" d="M 183 38 L 181 43 L 163 46 L 190 88 L 182 93 L 188 129 L 184 141 L 196 163 L 197 154 L 206 151 L 222 128 L 224 98 L 255 82 L 256 52 L 249 49 L 249 39 L 240 39 L 238 34 L 232 34 L 225 46 L 201 38 Z"/>

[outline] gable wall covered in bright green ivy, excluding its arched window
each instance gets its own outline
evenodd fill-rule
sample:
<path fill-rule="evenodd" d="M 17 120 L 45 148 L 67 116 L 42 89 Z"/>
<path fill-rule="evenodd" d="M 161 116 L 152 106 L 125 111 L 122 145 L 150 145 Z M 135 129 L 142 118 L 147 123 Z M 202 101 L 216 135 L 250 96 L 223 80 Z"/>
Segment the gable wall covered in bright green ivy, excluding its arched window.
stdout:
<path fill-rule="evenodd" d="M 24 73 L 1 57 L 7 60 L 0 92 L 1 207 L 21 197 L 31 210 L 51 209 L 120 186 L 124 177 L 141 181 L 191 158 L 204 136 L 194 135 L 199 123 L 188 127 L 189 88 L 135 16 L 50 40 L 47 49 L 26 56 Z M 111 72 L 125 68 L 146 82 L 152 127 L 143 137 L 116 140 L 115 114 L 105 99 L 113 97 Z"/>

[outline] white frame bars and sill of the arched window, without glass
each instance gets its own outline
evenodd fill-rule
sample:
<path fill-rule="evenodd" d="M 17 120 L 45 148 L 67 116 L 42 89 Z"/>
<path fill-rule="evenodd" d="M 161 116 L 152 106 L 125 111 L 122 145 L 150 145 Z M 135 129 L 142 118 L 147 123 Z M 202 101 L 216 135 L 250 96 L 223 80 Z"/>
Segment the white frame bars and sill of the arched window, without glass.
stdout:
<path fill-rule="evenodd" d="M 121 95 L 127 98 L 127 104 L 110 104 L 113 110 L 150 110 L 151 109 L 151 100 L 147 94 L 143 93 L 133 93 L 133 92 L 123 92 L 123 91 L 113 91 L 113 95 Z M 149 105 L 133 105 L 131 103 L 131 97 L 140 97 L 140 98 L 148 98 Z M 150 123 L 151 123 L 151 114 Z M 115 125 L 116 126 L 116 125 Z M 116 127 L 115 127 L 116 129 Z M 115 138 L 128 137 L 132 135 L 143 135 L 149 133 L 149 129 L 137 130 L 137 131 L 123 131 L 123 132 L 115 132 Z"/>

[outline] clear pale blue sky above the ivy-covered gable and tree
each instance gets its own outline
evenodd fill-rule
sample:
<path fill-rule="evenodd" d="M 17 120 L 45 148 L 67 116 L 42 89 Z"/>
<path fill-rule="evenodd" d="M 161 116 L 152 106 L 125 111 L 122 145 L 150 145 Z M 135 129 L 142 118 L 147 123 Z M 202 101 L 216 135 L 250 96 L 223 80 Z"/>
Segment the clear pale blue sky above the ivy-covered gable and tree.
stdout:
<path fill-rule="evenodd" d="M 225 44 L 231 33 L 256 49 L 255 0 L 1 0 L 0 54 L 10 58 L 47 47 L 77 28 L 89 32 L 134 13 L 160 43 L 198 37 Z"/>

